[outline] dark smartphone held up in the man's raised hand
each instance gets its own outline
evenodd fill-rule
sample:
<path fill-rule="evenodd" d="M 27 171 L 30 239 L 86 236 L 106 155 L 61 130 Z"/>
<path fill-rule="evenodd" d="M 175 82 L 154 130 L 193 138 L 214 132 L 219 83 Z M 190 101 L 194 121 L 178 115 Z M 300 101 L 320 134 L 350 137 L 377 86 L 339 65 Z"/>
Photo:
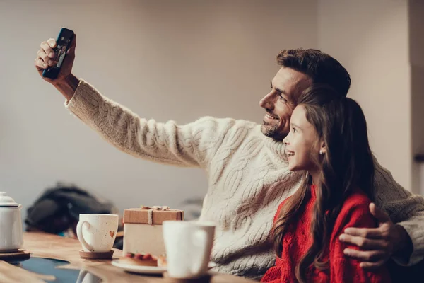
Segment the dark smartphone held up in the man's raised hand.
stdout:
<path fill-rule="evenodd" d="M 49 79 L 56 79 L 59 74 L 60 68 L 66 57 L 66 52 L 73 40 L 73 31 L 67 28 L 61 28 L 59 35 L 57 36 L 57 46 L 54 48 L 54 62 L 55 65 L 48 67 L 42 72 L 42 76 Z"/>

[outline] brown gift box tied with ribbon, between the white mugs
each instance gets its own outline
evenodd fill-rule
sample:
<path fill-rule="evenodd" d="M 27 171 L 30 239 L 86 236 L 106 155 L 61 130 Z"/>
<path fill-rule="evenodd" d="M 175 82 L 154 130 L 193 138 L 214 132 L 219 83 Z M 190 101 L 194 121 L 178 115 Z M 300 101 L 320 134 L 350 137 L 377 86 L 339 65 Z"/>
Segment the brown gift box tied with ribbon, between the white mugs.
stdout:
<path fill-rule="evenodd" d="M 126 253 L 165 254 L 162 223 L 184 219 L 182 210 L 169 207 L 140 207 L 124 210 L 124 247 Z"/>

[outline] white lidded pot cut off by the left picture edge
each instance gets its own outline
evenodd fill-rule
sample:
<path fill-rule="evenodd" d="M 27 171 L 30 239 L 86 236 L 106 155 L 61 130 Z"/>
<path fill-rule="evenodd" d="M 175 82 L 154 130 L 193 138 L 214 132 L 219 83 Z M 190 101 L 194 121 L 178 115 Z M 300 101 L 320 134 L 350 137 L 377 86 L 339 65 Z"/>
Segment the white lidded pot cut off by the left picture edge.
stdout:
<path fill-rule="evenodd" d="M 6 192 L 0 192 L 0 253 L 23 246 L 21 207 Z"/>

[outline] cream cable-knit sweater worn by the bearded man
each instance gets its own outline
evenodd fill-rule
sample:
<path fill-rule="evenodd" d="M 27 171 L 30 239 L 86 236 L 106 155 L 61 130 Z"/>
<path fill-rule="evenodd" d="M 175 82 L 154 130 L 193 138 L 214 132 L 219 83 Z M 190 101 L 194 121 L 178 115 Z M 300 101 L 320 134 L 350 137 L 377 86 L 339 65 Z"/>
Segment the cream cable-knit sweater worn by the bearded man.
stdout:
<path fill-rule="evenodd" d="M 278 204 L 295 192 L 301 173 L 290 173 L 283 143 L 254 122 L 203 117 L 187 125 L 141 119 L 80 80 L 66 107 L 118 149 L 159 163 L 203 168 L 208 192 L 201 219 L 216 221 L 212 257 L 218 271 L 259 278 L 273 265 L 270 241 Z M 413 241 L 413 264 L 424 257 L 424 201 L 377 165 L 376 203 Z"/>

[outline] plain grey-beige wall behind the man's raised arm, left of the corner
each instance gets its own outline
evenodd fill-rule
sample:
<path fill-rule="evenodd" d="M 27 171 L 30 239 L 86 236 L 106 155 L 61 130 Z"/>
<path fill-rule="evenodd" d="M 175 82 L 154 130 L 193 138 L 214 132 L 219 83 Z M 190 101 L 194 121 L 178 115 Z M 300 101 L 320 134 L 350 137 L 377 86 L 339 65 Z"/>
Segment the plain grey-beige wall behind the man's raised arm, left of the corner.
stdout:
<path fill-rule="evenodd" d="M 33 62 L 62 26 L 74 73 L 141 117 L 261 122 L 278 51 L 317 47 L 315 1 L 0 1 L 0 187 L 24 208 L 58 180 L 119 209 L 180 207 L 206 178 L 128 156 L 64 108 Z"/>

